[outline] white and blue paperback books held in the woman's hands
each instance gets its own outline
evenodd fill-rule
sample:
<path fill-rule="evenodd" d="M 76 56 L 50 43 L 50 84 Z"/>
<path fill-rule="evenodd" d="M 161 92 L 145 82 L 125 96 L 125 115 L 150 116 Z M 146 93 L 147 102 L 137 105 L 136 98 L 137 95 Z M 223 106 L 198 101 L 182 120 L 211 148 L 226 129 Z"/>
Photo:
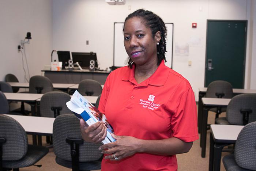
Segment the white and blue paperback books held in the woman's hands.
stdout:
<path fill-rule="evenodd" d="M 67 107 L 71 110 L 76 117 L 79 119 L 83 118 L 87 125 L 92 125 L 96 122 L 103 121 L 107 128 L 107 135 L 105 140 L 101 141 L 103 144 L 108 144 L 110 142 L 116 141 L 112 136 L 113 128 L 109 124 L 105 115 L 102 114 L 96 107 L 93 106 L 84 96 L 75 91 L 70 101 L 67 103 Z"/>

